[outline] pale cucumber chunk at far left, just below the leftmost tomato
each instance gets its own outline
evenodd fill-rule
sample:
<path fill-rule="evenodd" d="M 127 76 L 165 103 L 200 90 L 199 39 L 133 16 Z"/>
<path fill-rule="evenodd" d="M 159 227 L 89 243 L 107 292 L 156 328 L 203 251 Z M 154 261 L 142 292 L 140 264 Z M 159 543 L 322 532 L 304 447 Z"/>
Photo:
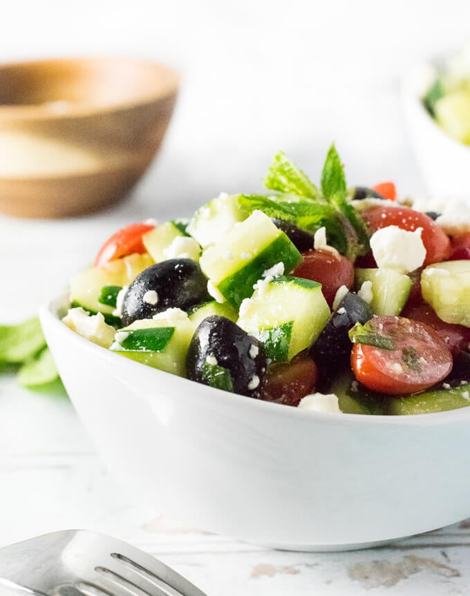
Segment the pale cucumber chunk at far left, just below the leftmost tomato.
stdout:
<path fill-rule="evenodd" d="M 115 324 L 115 307 L 100 302 L 102 289 L 106 286 L 127 286 L 138 273 L 152 264 L 153 259 L 150 255 L 134 253 L 106 263 L 104 267 L 90 267 L 80 271 L 70 280 L 71 302 L 73 306 L 80 306 L 91 314 L 101 312 L 107 323 Z"/>

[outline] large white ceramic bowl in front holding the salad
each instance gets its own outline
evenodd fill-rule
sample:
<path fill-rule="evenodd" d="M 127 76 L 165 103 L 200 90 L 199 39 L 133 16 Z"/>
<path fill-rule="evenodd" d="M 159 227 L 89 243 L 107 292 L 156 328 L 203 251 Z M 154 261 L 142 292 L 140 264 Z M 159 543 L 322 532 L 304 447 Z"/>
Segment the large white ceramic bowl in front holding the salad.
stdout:
<path fill-rule="evenodd" d="M 321 414 L 200 385 L 41 323 L 104 461 L 166 515 L 295 550 L 370 546 L 470 515 L 470 407 Z"/>

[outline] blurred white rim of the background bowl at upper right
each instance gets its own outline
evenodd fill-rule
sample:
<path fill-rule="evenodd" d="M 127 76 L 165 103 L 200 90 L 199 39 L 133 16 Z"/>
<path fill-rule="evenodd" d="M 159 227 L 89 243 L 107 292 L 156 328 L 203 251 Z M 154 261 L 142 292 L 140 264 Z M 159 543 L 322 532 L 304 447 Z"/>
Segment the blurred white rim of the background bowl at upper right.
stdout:
<path fill-rule="evenodd" d="M 470 145 L 466 145 L 451 137 L 451 135 L 448 135 L 424 107 L 423 97 L 424 93 L 426 93 L 424 81 L 426 81 L 427 87 L 429 87 L 429 84 L 432 84 L 433 79 L 438 75 L 438 63 L 442 61 L 442 58 L 431 57 L 430 59 L 423 59 L 408 69 L 402 79 L 402 102 L 404 106 L 413 108 L 414 113 L 411 116 L 413 119 L 415 117 L 422 119 L 422 122 L 426 122 L 426 126 L 434 131 L 434 134 L 440 138 L 440 141 L 450 144 L 456 149 L 460 149 L 462 153 L 468 153 L 470 158 Z M 431 76 L 433 77 L 432 79 Z"/>

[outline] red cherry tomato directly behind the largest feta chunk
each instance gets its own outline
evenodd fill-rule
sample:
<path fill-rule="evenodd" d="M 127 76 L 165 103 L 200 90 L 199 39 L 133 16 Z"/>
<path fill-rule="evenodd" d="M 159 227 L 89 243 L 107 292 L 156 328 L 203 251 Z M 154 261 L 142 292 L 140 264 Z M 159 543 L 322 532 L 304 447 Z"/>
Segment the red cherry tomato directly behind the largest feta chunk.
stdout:
<path fill-rule="evenodd" d="M 361 215 L 373 232 L 388 226 L 397 226 L 411 232 L 422 228 L 421 239 L 426 249 L 424 265 L 449 258 L 451 253 L 449 237 L 426 213 L 420 213 L 409 207 L 374 205 L 362 211 Z"/>

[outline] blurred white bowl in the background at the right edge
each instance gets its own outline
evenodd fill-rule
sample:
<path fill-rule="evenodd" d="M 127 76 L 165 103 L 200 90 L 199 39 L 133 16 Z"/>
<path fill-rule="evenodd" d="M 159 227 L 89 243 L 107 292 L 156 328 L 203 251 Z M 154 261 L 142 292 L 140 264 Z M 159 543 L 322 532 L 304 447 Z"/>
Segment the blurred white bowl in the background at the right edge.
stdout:
<path fill-rule="evenodd" d="M 402 85 L 402 101 L 417 161 L 434 197 L 464 199 L 470 204 L 470 147 L 435 123 L 422 103 L 437 71 L 431 62 L 411 68 Z"/>

